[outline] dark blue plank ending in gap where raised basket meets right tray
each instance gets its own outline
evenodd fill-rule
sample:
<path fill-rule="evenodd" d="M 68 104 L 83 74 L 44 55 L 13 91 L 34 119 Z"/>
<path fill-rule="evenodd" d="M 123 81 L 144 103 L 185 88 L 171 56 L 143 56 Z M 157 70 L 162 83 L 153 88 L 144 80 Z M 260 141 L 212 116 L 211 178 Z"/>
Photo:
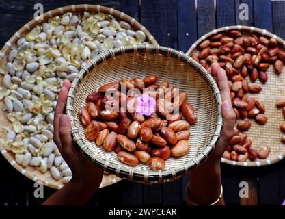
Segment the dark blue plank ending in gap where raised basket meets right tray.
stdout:
<path fill-rule="evenodd" d="M 187 52 L 191 44 L 197 40 L 195 0 L 180 0 L 177 3 L 178 49 Z"/>

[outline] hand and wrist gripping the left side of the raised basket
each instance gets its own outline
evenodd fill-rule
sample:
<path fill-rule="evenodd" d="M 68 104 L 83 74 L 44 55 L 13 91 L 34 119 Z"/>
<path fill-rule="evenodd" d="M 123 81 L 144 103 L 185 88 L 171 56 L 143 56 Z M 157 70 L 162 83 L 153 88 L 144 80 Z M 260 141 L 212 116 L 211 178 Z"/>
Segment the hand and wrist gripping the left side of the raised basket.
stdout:
<path fill-rule="evenodd" d="M 70 81 L 65 80 L 62 89 L 59 92 L 57 107 L 55 109 L 55 119 L 53 121 L 54 135 L 53 140 L 62 154 L 66 164 L 72 170 L 72 182 L 79 188 L 88 186 L 97 190 L 103 177 L 103 170 L 95 166 L 85 157 L 71 137 L 70 119 L 64 114 L 66 99 Z"/>

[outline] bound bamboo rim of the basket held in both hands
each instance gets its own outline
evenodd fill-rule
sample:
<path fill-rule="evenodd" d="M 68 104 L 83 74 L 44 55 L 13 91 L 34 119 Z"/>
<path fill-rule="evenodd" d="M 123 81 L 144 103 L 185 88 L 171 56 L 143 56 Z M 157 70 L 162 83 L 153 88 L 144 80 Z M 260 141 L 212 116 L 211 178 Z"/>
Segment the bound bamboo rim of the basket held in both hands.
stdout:
<path fill-rule="evenodd" d="M 211 136 L 210 142 L 208 142 L 207 146 L 205 147 L 204 151 L 195 159 L 191 159 L 187 164 L 183 166 L 178 166 L 175 168 L 170 168 L 168 170 L 159 170 L 159 171 L 152 171 L 152 170 L 137 170 L 136 168 L 126 168 L 120 165 L 120 162 L 110 162 L 109 160 L 101 159 L 98 155 L 92 155 L 92 151 L 88 149 L 87 145 L 84 143 L 83 139 L 79 134 L 79 130 L 75 125 L 75 120 L 78 118 L 74 118 L 72 116 L 73 110 L 73 101 L 74 96 L 77 93 L 77 86 L 83 80 L 83 77 L 87 75 L 92 68 L 96 68 L 96 66 L 102 64 L 106 60 L 109 60 L 117 55 L 124 55 L 125 53 L 152 53 L 157 55 L 165 55 L 166 57 L 174 57 L 176 60 L 184 62 L 185 64 L 191 66 L 195 69 L 204 79 L 207 81 L 208 86 L 210 86 L 211 91 L 213 93 L 213 97 L 215 99 L 215 103 L 217 105 L 216 112 L 217 112 L 217 120 L 215 124 L 215 131 Z M 141 182 L 141 183 L 163 183 L 165 181 L 172 181 L 178 177 L 184 175 L 188 170 L 195 168 L 203 162 L 206 157 L 208 156 L 213 149 L 215 149 L 215 143 L 219 139 L 221 133 L 221 127 L 223 125 L 223 118 L 221 116 L 221 94 L 219 92 L 219 88 L 217 86 L 216 81 L 213 79 L 211 74 L 207 72 L 205 68 L 202 67 L 201 64 L 193 60 L 193 58 L 189 57 L 182 51 L 177 51 L 172 48 L 167 47 L 160 47 L 159 45 L 146 45 L 146 44 L 139 44 L 133 45 L 128 47 L 120 47 L 116 49 L 110 49 L 105 53 L 101 53 L 100 55 L 96 56 L 93 60 L 87 63 L 85 68 L 81 69 L 77 77 L 72 82 L 72 86 L 68 92 L 68 99 L 66 103 L 66 114 L 70 117 L 71 125 L 72 125 L 72 136 L 74 142 L 77 142 L 79 147 L 81 147 L 81 152 L 84 153 L 89 159 L 94 162 L 97 166 L 103 168 L 103 170 L 110 172 L 112 174 L 117 175 L 118 177 L 129 179 L 131 181 Z"/>

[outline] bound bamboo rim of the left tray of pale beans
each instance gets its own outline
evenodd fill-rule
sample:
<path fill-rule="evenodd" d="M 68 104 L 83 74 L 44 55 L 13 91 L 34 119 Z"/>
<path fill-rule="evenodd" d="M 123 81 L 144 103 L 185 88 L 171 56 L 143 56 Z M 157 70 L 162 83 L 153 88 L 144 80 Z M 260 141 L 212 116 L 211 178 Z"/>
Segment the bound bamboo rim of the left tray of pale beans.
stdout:
<path fill-rule="evenodd" d="M 36 25 L 40 25 L 44 21 L 46 21 L 47 19 L 52 18 L 54 16 L 58 16 L 60 14 L 64 14 L 66 12 L 83 12 L 83 11 L 103 12 L 105 14 L 111 14 L 112 16 L 120 19 L 121 21 L 127 21 L 128 23 L 131 24 L 131 26 L 134 29 L 143 31 L 148 38 L 148 42 L 150 42 L 151 44 L 154 44 L 154 45 L 158 44 L 157 41 L 152 36 L 152 34 L 150 34 L 150 32 L 146 29 L 146 27 L 144 27 L 143 25 L 141 25 L 141 23 L 136 21 L 135 18 L 128 16 L 124 12 L 120 12 L 119 10 L 116 10 L 114 8 L 109 8 L 109 7 L 105 7 L 105 6 L 101 6 L 101 5 L 92 5 L 92 4 L 66 5 L 64 7 L 55 8 L 53 10 L 50 10 L 49 12 L 42 14 L 42 16 L 44 17 L 43 20 L 33 18 L 31 21 L 29 21 L 28 23 L 23 25 L 23 27 L 18 29 L 18 31 L 16 31 L 15 34 L 13 34 L 13 36 L 2 47 L 2 49 L 0 51 L 0 63 L 2 62 L 4 57 L 6 57 L 8 55 L 8 52 L 13 47 L 16 40 L 18 40 L 22 36 L 25 36 L 27 31 L 30 31 L 33 27 L 36 27 Z M 36 181 L 38 183 L 42 183 L 43 185 L 46 185 L 46 186 L 49 186 L 49 187 L 55 188 L 55 189 L 60 189 L 64 186 L 64 184 L 62 184 L 62 183 L 50 183 L 49 181 L 41 181 L 40 179 L 38 179 L 38 177 L 36 177 L 36 175 L 33 172 L 30 172 L 30 171 L 26 170 L 25 168 L 23 168 L 22 166 L 18 165 L 15 162 L 15 160 L 12 159 L 12 157 L 8 153 L 8 151 L 6 151 L 5 149 L 2 149 L 1 154 L 3 155 L 3 157 L 5 157 L 5 159 L 8 162 L 10 162 L 10 164 L 14 168 L 16 168 L 16 170 L 18 170 L 18 172 L 21 172 L 21 174 L 25 175 L 29 179 Z M 119 179 L 113 179 L 113 181 L 118 182 L 120 180 Z M 109 185 L 109 183 L 107 183 L 104 186 L 107 186 L 107 185 Z"/>

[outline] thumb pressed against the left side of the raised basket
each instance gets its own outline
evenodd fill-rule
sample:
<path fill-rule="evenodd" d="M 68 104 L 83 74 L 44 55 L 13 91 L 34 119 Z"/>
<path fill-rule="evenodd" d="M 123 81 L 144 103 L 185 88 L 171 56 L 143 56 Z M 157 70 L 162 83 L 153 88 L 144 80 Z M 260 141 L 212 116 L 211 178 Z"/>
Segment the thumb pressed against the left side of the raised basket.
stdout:
<path fill-rule="evenodd" d="M 62 151 L 71 153 L 73 151 L 73 142 L 71 138 L 71 123 L 67 115 L 59 117 L 59 138 L 62 142 Z"/>

